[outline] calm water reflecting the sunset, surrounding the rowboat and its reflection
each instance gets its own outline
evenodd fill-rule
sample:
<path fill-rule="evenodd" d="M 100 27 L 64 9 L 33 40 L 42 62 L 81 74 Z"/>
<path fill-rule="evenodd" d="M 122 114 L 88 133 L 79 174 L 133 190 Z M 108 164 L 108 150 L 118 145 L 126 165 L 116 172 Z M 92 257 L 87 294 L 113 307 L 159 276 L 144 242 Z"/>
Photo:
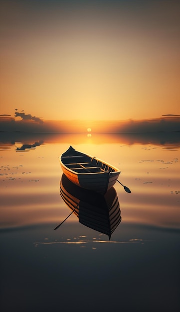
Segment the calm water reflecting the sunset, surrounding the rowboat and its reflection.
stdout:
<path fill-rule="evenodd" d="M 0 311 L 180 309 L 180 136 L 0 135 Z M 58 157 L 72 145 L 120 168 L 108 235 L 72 214 Z"/>

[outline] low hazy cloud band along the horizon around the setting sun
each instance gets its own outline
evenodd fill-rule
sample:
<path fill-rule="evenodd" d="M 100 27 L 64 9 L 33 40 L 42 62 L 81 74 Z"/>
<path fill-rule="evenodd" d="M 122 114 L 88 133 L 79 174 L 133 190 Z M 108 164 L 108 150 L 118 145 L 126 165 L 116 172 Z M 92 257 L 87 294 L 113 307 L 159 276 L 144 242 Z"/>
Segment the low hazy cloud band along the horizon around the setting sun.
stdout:
<path fill-rule="evenodd" d="M 91 133 L 180 133 L 180 116 L 127 121 L 51 120 L 41 123 L 33 120 L 16 121 L 12 117 L 0 118 L 0 133 L 87 133 L 87 129 Z"/>

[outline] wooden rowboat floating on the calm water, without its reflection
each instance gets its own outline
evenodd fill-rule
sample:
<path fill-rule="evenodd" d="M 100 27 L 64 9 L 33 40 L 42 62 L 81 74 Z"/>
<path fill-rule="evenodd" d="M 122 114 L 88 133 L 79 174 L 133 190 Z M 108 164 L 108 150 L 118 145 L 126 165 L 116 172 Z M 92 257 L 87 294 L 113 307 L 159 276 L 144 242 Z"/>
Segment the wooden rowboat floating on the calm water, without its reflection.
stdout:
<path fill-rule="evenodd" d="M 105 194 L 117 181 L 120 170 L 111 164 L 69 147 L 60 157 L 62 171 L 74 184 Z"/>

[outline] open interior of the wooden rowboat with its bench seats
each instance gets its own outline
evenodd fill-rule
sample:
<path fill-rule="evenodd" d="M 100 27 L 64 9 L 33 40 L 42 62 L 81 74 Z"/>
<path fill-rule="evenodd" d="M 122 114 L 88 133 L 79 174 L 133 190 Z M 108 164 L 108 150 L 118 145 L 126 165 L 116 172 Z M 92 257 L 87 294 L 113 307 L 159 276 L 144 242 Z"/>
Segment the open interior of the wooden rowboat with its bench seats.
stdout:
<path fill-rule="evenodd" d="M 79 173 L 103 173 L 115 171 L 115 169 L 108 164 L 86 155 L 62 156 L 61 159 L 66 167 Z"/>

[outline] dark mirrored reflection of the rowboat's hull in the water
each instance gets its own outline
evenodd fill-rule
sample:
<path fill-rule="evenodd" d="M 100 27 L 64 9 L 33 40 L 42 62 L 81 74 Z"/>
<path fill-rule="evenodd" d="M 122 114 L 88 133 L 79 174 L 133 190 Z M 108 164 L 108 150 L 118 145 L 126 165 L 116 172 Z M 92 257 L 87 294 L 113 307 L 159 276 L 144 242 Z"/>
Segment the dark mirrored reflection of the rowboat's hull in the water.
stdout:
<path fill-rule="evenodd" d="M 114 187 L 111 187 L 105 195 L 101 195 L 75 185 L 63 173 L 60 195 L 67 206 L 74 210 L 81 224 L 111 238 L 121 222 L 121 210 Z"/>

